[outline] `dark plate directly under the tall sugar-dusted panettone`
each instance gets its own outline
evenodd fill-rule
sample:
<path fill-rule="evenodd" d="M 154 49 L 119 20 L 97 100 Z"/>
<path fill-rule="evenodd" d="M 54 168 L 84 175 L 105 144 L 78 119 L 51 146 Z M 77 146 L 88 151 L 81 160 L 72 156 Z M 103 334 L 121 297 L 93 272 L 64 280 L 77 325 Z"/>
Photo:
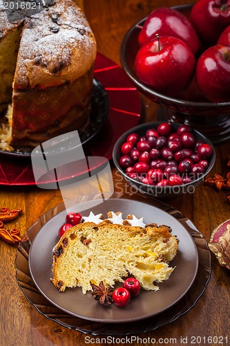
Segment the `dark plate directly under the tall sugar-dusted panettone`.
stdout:
<path fill-rule="evenodd" d="M 92 94 L 92 108 L 90 112 L 90 122 L 84 131 L 79 132 L 79 138 L 82 145 L 88 143 L 89 140 L 93 139 L 102 129 L 104 122 L 108 116 L 109 101 L 108 95 L 104 89 L 102 83 L 94 78 L 93 80 L 93 94 Z M 71 149 L 74 149 L 71 147 Z M 64 150 L 68 150 L 64 148 Z M 18 148 L 12 151 L 6 151 L 0 149 L 0 154 L 6 154 L 10 156 L 30 157 L 32 149 Z M 55 153 L 54 153 L 55 154 Z"/>

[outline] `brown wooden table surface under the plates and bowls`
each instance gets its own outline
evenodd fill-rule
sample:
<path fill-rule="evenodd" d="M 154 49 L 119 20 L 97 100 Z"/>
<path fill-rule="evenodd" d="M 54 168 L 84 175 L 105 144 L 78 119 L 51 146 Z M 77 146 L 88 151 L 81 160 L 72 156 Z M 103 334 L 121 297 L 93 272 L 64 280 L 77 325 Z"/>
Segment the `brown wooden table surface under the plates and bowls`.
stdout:
<path fill-rule="evenodd" d="M 185 3 L 183 0 L 85 0 L 84 10 L 86 17 L 97 39 L 97 50 L 106 57 L 120 64 L 119 47 L 128 28 L 139 21 L 154 8 L 160 6 L 175 6 Z M 157 119 L 157 105 L 142 98 L 145 109 L 144 121 Z M 226 174 L 230 144 L 226 143 L 215 147 L 216 162 L 214 172 Z M 116 170 L 113 167 L 114 179 Z M 224 220 L 230 218 L 230 204 L 226 199 L 227 193 L 216 192 L 201 184 L 194 194 L 186 194 L 169 203 L 191 219 L 195 226 L 209 241 L 212 230 Z M 61 202 L 58 190 L 41 190 L 37 187 L 0 187 L 1 207 L 15 208 L 21 206 L 23 214 L 11 222 L 10 226 L 17 226 L 21 235 L 26 232 L 39 215 Z M 87 345 L 86 336 L 80 332 L 61 327 L 56 322 L 48 320 L 32 307 L 26 300 L 15 278 L 15 256 L 17 248 L 6 244 L 0 239 L 1 277 L 0 277 L 0 340 L 1 345 Z M 192 336 L 195 345 L 206 345 L 204 337 L 228 336 L 229 332 L 229 271 L 220 268 L 214 255 L 211 255 L 211 280 L 204 294 L 186 315 L 178 318 L 170 325 L 161 327 L 142 338 L 176 338 L 177 345 L 191 345 Z M 188 337 L 188 343 L 180 342 L 180 337 Z M 96 338 L 95 338 L 96 339 Z M 95 343 L 101 340 L 97 337 Z M 189 341 L 190 340 L 190 341 Z M 117 345 L 119 345 L 117 340 Z M 144 340 L 145 341 L 145 340 Z M 144 343 L 143 341 L 143 343 Z M 230 343 L 230 338 L 228 340 Z M 102 340 L 104 343 L 104 340 Z M 166 344 L 165 341 L 164 344 Z M 173 345 L 173 340 L 168 340 Z M 93 340 L 90 342 L 93 345 Z M 227 345 L 226 339 L 223 345 Z M 121 344 L 122 345 L 122 344 Z M 133 345 L 141 345 L 134 342 Z M 142 344 L 143 345 L 143 344 Z M 175 345 L 175 341 L 174 341 Z M 216 345 L 210 343 L 209 345 Z M 221 345 L 221 344 L 218 344 Z"/>

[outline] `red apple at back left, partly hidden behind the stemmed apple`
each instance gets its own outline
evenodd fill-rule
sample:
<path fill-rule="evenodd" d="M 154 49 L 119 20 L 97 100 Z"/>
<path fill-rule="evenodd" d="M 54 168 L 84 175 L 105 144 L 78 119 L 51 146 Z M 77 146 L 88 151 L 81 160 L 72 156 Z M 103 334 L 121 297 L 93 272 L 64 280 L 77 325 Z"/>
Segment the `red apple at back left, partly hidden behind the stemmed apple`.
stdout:
<path fill-rule="evenodd" d="M 154 39 L 156 34 L 181 39 L 194 54 L 200 46 L 198 35 L 189 19 L 173 8 L 157 8 L 148 16 L 139 35 L 140 46 Z"/>

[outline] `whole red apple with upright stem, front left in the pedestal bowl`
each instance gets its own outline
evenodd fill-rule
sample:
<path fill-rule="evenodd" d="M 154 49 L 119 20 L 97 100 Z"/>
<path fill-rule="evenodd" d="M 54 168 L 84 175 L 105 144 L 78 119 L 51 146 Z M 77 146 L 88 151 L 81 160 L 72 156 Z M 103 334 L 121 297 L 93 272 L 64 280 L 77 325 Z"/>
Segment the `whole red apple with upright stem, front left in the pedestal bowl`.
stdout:
<path fill-rule="evenodd" d="M 140 80 L 155 91 L 169 96 L 182 93 L 193 77 L 195 58 L 181 39 L 162 36 L 140 48 L 135 69 Z"/>

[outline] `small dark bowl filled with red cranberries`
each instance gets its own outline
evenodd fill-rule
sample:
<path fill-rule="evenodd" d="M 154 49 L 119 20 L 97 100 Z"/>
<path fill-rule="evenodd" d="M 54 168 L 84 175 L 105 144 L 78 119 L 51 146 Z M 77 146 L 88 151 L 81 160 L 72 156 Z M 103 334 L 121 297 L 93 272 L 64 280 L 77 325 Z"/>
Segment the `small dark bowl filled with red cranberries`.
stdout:
<path fill-rule="evenodd" d="M 169 199 L 195 191 L 215 163 L 215 149 L 188 125 L 148 122 L 117 140 L 113 161 L 132 192 Z"/>

